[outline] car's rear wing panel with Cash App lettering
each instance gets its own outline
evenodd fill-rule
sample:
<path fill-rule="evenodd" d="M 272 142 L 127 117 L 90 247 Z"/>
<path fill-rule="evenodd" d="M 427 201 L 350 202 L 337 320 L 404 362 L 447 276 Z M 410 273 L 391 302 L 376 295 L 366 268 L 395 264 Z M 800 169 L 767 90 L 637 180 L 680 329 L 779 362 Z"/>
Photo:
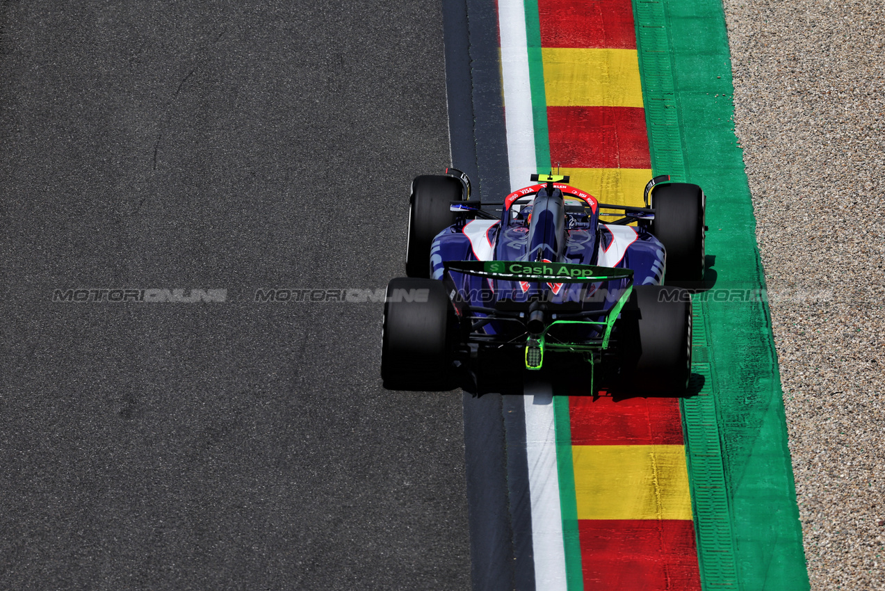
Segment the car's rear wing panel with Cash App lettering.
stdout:
<path fill-rule="evenodd" d="M 543 283 L 594 283 L 633 279 L 632 269 L 615 269 L 571 263 L 533 263 L 530 261 L 448 261 L 447 272 L 460 272 L 495 280 L 538 281 Z"/>

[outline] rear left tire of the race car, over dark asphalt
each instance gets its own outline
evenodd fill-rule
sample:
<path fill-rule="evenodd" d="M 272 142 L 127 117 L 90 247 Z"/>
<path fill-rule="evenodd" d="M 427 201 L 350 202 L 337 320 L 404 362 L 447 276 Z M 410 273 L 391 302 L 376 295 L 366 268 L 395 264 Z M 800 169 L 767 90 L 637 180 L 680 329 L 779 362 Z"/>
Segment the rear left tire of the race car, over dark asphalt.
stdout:
<path fill-rule="evenodd" d="M 381 379 L 390 390 L 455 388 L 451 367 L 454 309 L 442 281 L 390 280 L 381 333 Z"/>

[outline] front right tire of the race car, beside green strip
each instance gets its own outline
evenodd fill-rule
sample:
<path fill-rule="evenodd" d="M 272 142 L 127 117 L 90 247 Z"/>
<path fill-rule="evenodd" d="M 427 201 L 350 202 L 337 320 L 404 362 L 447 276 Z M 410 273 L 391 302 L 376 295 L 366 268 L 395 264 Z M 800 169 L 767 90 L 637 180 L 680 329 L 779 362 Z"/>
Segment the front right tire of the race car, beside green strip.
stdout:
<path fill-rule="evenodd" d="M 666 249 L 666 285 L 703 281 L 704 191 L 684 182 L 659 185 L 651 193 L 651 207 L 651 234 Z"/>

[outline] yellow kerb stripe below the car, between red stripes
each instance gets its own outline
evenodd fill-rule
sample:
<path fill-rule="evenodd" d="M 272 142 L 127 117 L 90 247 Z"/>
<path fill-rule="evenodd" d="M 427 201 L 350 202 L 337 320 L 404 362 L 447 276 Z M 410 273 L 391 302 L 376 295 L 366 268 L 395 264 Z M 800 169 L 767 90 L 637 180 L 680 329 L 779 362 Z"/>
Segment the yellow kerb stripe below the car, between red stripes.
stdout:
<path fill-rule="evenodd" d="M 575 445 L 579 519 L 691 519 L 681 445 Z"/>

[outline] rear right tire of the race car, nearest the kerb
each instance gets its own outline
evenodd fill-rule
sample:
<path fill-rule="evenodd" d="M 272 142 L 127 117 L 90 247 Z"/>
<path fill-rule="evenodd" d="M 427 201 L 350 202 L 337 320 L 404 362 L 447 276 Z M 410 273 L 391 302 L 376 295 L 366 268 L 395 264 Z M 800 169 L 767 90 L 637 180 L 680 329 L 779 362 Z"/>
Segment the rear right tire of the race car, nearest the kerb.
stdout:
<path fill-rule="evenodd" d="M 618 331 L 619 389 L 681 395 L 691 374 L 691 299 L 682 288 L 633 288 Z"/>

